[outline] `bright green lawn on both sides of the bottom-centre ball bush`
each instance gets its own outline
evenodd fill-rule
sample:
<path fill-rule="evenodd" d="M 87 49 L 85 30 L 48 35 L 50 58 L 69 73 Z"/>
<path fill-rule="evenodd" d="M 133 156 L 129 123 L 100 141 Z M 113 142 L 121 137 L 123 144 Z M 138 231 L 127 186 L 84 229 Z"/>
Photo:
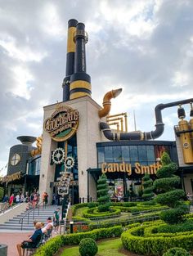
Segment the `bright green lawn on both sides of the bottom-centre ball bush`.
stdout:
<path fill-rule="evenodd" d="M 119 253 L 119 249 L 123 247 L 120 238 L 113 240 L 101 241 L 98 244 L 98 253 L 96 256 L 123 256 Z M 64 249 L 61 256 L 79 256 L 79 246 L 73 246 Z"/>

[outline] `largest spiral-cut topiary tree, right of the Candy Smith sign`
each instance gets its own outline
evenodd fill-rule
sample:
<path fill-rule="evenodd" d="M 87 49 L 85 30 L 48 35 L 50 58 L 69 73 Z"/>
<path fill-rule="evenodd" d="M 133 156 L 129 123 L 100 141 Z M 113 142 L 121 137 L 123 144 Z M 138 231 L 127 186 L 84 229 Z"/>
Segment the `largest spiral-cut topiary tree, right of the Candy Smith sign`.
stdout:
<path fill-rule="evenodd" d="M 159 217 L 169 224 L 182 222 L 188 208 L 182 201 L 185 192 L 179 189 L 180 177 L 174 175 L 177 171 L 177 164 L 171 161 L 166 152 L 161 157 L 161 164 L 162 167 L 156 173 L 158 179 L 154 182 L 156 194 L 158 194 L 155 201 L 161 205 L 168 205 L 170 209 L 160 213 Z"/>

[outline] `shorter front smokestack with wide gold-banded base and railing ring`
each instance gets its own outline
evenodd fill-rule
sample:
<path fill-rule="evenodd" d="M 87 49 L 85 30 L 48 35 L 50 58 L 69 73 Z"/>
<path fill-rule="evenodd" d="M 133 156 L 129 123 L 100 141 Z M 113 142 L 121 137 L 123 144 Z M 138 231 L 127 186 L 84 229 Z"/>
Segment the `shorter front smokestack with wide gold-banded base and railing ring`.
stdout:
<path fill-rule="evenodd" d="M 74 74 L 70 76 L 70 100 L 83 96 L 91 96 L 91 78 L 86 73 L 85 53 L 85 44 L 88 42 L 88 35 L 84 27 L 83 23 L 78 23 L 74 36 L 76 50 Z"/>

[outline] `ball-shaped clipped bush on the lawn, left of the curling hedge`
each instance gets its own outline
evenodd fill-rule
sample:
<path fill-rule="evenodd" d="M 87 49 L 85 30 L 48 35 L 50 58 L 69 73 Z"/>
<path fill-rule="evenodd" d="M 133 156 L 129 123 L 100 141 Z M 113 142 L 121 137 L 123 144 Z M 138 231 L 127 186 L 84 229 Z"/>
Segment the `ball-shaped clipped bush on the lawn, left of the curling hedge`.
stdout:
<path fill-rule="evenodd" d="M 98 251 L 96 241 L 92 238 L 84 238 L 79 244 L 79 253 L 81 256 L 95 256 Z"/>

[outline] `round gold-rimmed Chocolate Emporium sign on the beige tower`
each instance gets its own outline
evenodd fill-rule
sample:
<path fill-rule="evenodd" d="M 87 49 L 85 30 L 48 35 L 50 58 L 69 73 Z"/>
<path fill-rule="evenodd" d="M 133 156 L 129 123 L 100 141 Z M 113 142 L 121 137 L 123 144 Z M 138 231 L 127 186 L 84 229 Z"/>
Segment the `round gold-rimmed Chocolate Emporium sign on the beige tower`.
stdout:
<path fill-rule="evenodd" d="M 54 141 L 66 141 L 79 126 L 79 111 L 68 106 L 57 106 L 52 116 L 44 121 L 43 128 Z"/>

